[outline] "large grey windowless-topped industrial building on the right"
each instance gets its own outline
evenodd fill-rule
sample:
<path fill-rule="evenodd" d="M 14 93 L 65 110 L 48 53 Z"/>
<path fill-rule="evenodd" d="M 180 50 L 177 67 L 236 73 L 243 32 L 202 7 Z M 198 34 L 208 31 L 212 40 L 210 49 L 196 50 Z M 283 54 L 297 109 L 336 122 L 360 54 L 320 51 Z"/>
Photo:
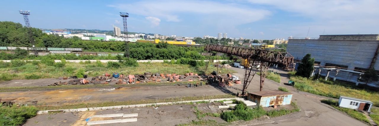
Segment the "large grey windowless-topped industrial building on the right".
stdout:
<path fill-rule="evenodd" d="M 312 75 L 359 83 L 359 78 L 368 68 L 379 70 L 379 34 L 320 35 L 319 38 L 294 38 L 288 40 L 287 52 L 295 60 L 307 53 L 315 58 Z M 297 68 L 296 64 L 296 68 Z M 377 82 L 368 84 L 379 87 Z"/>

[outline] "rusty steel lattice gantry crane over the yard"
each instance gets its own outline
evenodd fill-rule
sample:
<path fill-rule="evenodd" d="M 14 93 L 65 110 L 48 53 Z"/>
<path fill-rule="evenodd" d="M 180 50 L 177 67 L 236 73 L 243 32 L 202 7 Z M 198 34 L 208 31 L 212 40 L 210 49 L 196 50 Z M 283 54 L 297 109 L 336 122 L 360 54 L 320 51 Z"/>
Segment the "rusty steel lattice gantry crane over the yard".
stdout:
<path fill-rule="evenodd" d="M 245 47 L 231 47 L 224 45 L 207 44 L 204 47 L 206 51 L 216 51 L 228 55 L 238 56 L 247 59 L 251 64 L 246 66 L 243 78 L 242 95 L 245 95 L 252 78 L 257 71 L 260 71 L 260 91 L 263 89 L 268 67 L 271 64 L 280 64 L 285 70 L 294 70 L 293 56 L 287 52 L 268 51 L 262 49 L 253 49 Z M 254 71 L 253 69 L 257 69 Z M 259 70 L 258 70 L 259 69 Z"/>

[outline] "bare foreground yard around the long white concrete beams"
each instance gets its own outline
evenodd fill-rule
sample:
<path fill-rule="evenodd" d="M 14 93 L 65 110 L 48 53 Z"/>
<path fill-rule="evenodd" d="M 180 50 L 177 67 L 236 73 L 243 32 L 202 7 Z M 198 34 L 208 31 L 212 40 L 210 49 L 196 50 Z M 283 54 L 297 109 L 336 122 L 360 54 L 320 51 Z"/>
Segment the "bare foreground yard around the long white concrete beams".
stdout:
<path fill-rule="evenodd" d="M 194 112 L 195 106 L 202 112 L 218 112 L 221 113 L 222 110 L 219 108 L 209 108 L 208 106 L 212 105 L 221 105 L 221 103 L 202 103 L 202 104 L 177 104 L 169 106 L 158 106 L 157 107 L 138 107 L 138 108 L 124 108 L 124 109 L 112 109 L 112 110 L 101 110 L 101 111 L 87 111 L 87 112 L 72 112 L 72 113 L 56 113 L 56 114 L 42 114 L 37 115 L 34 118 L 28 120 L 25 126 L 85 126 L 86 119 L 92 115 L 103 115 L 103 114 L 135 114 L 138 113 L 138 117 L 129 117 L 137 118 L 136 122 L 128 123 L 111 123 L 111 124 L 101 124 L 101 126 L 174 126 L 177 124 L 190 123 L 192 120 L 198 121 Z M 290 114 L 276 119 L 288 119 L 291 116 L 298 114 Z M 91 118 L 90 121 L 99 121 L 99 120 L 114 120 L 114 119 L 123 119 L 122 117 L 113 117 L 113 118 Z M 201 118 L 202 120 L 216 120 L 220 124 L 234 125 L 238 126 L 241 124 L 247 123 L 259 123 L 267 121 L 269 117 L 262 117 L 257 120 L 252 121 L 235 121 L 233 123 L 227 123 L 218 117 L 206 116 Z M 97 125 L 96 125 L 97 126 Z M 100 126 L 100 125 L 99 125 Z"/>

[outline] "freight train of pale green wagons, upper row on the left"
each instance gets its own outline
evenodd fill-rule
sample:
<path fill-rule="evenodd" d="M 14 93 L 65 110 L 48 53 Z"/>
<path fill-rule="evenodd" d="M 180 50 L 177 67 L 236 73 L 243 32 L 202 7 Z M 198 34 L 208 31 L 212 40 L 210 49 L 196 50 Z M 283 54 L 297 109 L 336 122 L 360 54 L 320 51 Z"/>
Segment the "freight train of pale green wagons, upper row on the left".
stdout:
<path fill-rule="evenodd" d="M 23 50 L 34 51 L 33 47 L 0 47 L 0 51 L 13 51 L 16 48 Z M 35 51 L 70 51 L 70 52 L 83 52 L 81 48 L 50 48 L 50 47 L 35 47 Z"/>

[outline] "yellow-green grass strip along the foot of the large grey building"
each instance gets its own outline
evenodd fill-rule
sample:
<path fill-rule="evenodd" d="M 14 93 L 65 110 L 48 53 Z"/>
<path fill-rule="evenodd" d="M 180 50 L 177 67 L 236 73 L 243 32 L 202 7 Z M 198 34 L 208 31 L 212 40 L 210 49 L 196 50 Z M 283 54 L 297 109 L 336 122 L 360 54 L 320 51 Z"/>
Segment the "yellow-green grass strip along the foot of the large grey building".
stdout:
<path fill-rule="evenodd" d="M 364 100 L 370 100 L 374 106 L 379 106 L 378 92 L 371 92 L 340 81 L 312 80 L 299 76 L 291 76 L 291 81 L 295 82 L 294 87 L 303 92 L 309 92 L 316 95 L 327 96 L 330 98 L 339 98 L 340 95 L 354 97 Z"/>

